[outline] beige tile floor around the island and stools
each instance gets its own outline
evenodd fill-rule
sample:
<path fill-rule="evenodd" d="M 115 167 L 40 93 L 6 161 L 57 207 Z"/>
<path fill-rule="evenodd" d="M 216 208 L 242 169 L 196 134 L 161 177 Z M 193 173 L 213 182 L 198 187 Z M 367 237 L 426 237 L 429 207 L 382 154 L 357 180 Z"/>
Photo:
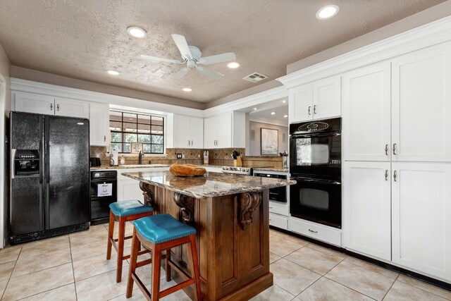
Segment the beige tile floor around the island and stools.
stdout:
<path fill-rule="evenodd" d="M 106 236 L 97 225 L 0 250 L 1 300 L 127 300 L 127 281 L 116 283 L 115 252 L 105 259 Z M 130 240 L 125 247 L 130 252 Z M 270 260 L 274 285 L 252 300 L 451 300 L 450 291 L 273 230 Z M 150 266 L 137 271 L 150 284 Z M 124 262 L 125 280 L 127 272 Z M 129 300 L 144 300 L 136 285 Z M 190 299 L 179 291 L 163 300 Z"/>

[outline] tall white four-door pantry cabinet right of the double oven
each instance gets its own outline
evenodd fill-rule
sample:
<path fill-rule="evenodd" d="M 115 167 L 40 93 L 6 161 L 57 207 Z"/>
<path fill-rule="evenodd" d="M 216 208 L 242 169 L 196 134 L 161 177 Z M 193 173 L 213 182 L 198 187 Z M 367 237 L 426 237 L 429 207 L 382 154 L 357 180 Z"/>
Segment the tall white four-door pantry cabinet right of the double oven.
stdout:
<path fill-rule="evenodd" d="M 343 245 L 451 281 L 451 44 L 342 75 Z"/>

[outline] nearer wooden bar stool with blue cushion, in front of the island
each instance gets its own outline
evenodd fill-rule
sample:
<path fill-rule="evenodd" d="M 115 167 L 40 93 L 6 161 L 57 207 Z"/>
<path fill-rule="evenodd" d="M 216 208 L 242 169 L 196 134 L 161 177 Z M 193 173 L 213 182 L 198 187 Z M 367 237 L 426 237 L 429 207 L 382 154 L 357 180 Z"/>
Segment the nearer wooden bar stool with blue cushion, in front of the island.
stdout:
<path fill-rule="evenodd" d="M 180 223 L 169 214 L 157 214 L 147 216 L 142 219 L 133 221 L 135 228 L 133 229 L 132 251 L 130 254 L 130 267 L 128 271 L 127 297 L 132 296 L 133 283 L 136 282 L 147 300 L 159 300 L 177 290 L 185 288 L 187 285 L 195 284 L 194 297 L 195 300 L 201 300 L 200 280 L 199 280 L 199 263 L 197 262 L 196 247 L 196 229 L 191 226 Z M 140 243 L 147 249 L 152 251 L 152 259 L 137 262 L 138 248 Z M 171 248 L 179 245 L 189 244 L 188 249 L 191 253 L 189 259 L 192 266 L 194 277 L 180 270 L 178 266 L 171 261 Z M 161 257 L 161 251 L 166 250 L 166 256 Z M 185 280 L 182 283 L 160 290 L 160 269 L 161 259 L 166 257 L 166 281 L 171 281 L 171 266 Z M 144 286 L 144 283 L 135 273 L 137 267 L 152 263 L 152 285 L 151 292 Z"/>

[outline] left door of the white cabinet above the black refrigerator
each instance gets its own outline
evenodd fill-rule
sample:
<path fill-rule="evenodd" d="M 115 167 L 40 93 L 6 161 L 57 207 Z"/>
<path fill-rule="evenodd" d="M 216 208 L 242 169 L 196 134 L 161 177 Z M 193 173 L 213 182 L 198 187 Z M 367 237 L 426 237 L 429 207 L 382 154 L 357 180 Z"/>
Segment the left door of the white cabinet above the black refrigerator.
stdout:
<path fill-rule="evenodd" d="M 14 104 L 19 112 L 55 114 L 55 98 L 49 95 L 16 92 Z"/>

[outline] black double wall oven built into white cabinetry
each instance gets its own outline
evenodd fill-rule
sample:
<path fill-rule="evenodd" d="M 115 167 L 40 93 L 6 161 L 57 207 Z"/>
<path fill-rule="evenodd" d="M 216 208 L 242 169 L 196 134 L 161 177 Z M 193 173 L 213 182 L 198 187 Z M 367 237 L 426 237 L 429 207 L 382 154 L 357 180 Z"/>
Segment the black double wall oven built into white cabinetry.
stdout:
<path fill-rule="evenodd" d="M 290 124 L 290 214 L 341 228 L 341 118 Z"/>

